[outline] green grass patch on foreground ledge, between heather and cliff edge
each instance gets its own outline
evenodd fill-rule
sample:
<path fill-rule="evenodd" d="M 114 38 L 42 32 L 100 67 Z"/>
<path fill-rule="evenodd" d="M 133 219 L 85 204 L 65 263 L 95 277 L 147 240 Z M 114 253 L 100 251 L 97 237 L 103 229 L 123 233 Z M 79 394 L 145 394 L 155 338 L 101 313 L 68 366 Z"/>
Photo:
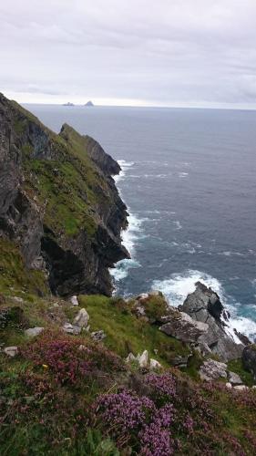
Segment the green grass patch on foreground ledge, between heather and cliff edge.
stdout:
<path fill-rule="evenodd" d="M 105 345 L 122 358 L 129 352 L 137 355 L 147 349 L 150 358 L 167 366 L 175 356 L 189 353 L 188 347 L 160 332 L 158 326 L 133 316 L 123 300 L 102 295 L 80 295 L 78 300 L 79 306 L 87 309 L 91 330 L 103 329 Z"/>

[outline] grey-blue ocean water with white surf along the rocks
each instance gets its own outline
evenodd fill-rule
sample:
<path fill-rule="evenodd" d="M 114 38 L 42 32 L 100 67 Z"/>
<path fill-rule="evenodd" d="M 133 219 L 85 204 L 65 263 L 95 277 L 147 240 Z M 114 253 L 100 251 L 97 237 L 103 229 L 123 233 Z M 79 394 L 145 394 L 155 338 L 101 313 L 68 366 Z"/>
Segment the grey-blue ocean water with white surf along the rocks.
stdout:
<path fill-rule="evenodd" d="M 181 304 L 196 281 L 256 337 L 256 112 L 27 105 L 48 127 L 64 122 L 119 161 L 131 260 L 111 271 L 116 292 L 161 290 Z"/>

